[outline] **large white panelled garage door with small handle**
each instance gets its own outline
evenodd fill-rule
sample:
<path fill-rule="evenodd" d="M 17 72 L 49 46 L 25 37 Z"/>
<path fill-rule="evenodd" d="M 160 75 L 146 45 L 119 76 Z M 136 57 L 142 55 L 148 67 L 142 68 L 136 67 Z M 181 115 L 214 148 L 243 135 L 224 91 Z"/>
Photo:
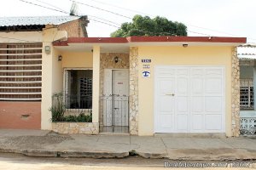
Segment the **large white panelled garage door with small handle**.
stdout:
<path fill-rule="evenodd" d="M 224 67 L 156 66 L 154 133 L 224 133 Z"/>

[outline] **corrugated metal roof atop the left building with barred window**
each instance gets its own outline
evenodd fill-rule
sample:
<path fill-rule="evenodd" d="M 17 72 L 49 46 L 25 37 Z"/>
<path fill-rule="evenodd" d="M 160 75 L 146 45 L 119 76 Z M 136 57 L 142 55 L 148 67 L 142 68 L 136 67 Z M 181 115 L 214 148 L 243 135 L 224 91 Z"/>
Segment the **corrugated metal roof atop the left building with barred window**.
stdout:
<path fill-rule="evenodd" d="M 0 26 L 61 25 L 79 18 L 79 16 L 0 17 Z"/>

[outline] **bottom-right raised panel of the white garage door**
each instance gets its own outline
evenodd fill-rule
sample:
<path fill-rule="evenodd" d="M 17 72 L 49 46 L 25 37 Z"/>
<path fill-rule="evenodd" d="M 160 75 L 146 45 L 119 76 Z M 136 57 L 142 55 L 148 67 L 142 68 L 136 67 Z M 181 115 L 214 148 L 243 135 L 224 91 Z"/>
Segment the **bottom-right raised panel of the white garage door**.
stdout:
<path fill-rule="evenodd" d="M 222 129 L 222 115 L 206 115 L 205 116 L 205 127 L 206 130 L 221 130 Z"/>

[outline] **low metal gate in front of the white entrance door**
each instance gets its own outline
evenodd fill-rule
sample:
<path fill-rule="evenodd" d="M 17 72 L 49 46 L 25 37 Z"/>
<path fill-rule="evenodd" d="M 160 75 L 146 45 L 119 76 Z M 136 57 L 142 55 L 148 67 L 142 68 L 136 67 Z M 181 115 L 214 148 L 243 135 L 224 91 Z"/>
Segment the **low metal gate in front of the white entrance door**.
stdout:
<path fill-rule="evenodd" d="M 103 133 L 129 133 L 129 96 L 110 94 L 101 97 Z"/>

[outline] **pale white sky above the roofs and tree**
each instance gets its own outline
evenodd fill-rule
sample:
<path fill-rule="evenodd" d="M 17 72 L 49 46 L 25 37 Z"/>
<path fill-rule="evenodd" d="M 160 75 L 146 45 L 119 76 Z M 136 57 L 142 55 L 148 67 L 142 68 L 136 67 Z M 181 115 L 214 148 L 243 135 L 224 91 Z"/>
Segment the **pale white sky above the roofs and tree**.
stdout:
<path fill-rule="evenodd" d="M 70 0 L 22 0 L 69 13 Z M 21 0 L 5 0 L 0 16 L 67 15 Z M 109 37 L 135 14 L 166 17 L 188 26 L 189 36 L 247 37 L 256 42 L 256 0 L 76 0 L 88 15 L 89 37 Z M 84 3 L 84 4 L 82 4 Z M 108 11 L 107 11 L 108 10 Z M 104 22 L 104 23 L 102 23 Z M 111 25 L 111 26 L 109 26 Z"/>

